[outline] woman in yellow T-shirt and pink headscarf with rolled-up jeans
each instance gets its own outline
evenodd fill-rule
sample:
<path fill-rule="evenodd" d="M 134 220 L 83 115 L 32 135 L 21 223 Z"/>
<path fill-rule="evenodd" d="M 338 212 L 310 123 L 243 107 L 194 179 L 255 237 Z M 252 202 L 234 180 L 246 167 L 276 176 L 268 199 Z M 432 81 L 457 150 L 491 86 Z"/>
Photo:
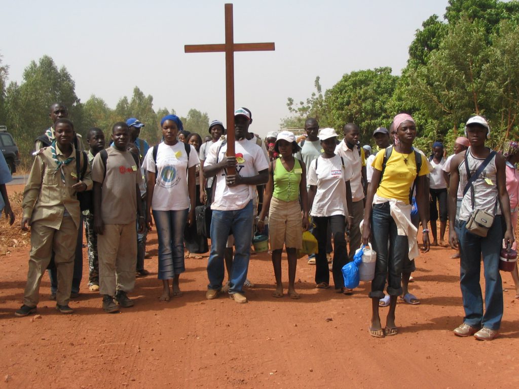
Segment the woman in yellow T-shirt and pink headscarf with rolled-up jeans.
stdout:
<path fill-rule="evenodd" d="M 416 183 L 416 201 L 422 226 L 427 226 L 428 196 L 426 197 L 427 173 L 425 158 L 415 151 L 416 124 L 407 114 L 393 119 L 397 129 L 395 144 L 386 161 L 386 149 L 380 150 L 373 161 L 373 176 L 367 191 L 362 241 L 371 241 L 377 253 L 375 277 L 371 284 L 372 318 L 370 335 L 378 338 L 397 335 L 395 309 L 397 298 L 402 294 L 402 262 L 409 256 L 418 256 L 416 227 L 411 222 L 411 193 Z M 389 150 L 388 150 L 389 151 Z M 385 163 L 384 163 L 385 162 Z M 418 169 L 417 163 L 421 166 Z M 384 166 L 385 164 L 385 166 Z M 399 235 L 399 232 L 405 235 Z M 429 251 L 429 230 L 423 231 L 423 251 Z M 389 247 L 388 247 L 389 241 Z M 390 296 L 386 327 L 382 329 L 378 314 L 379 300 L 387 293 Z"/>

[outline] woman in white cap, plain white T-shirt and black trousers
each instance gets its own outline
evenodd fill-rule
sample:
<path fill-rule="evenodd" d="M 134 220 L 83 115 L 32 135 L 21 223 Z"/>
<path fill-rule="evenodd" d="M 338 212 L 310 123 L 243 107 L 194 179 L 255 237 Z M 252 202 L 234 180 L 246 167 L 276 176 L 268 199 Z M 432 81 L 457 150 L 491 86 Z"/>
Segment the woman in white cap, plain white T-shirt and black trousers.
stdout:
<path fill-rule="evenodd" d="M 326 228 L 330 222 L 333 234 L 332 275 L 335 290 L 351 294 L 351 289 L 344 287 L 341 269 L 347 262 L 344 230 L 346 223 L 351 227 L 351 167 L 345 160 L 335 155 L 337 134 L 333 128 L 324 128 L 319 134 L 323 153 L 310 162 L 308 168 L 308 208 L 311 210 L 312 223 L 319 252 L 316 255 L 316 287 L 330 287 L 330 271 L 326 260 Z"/>

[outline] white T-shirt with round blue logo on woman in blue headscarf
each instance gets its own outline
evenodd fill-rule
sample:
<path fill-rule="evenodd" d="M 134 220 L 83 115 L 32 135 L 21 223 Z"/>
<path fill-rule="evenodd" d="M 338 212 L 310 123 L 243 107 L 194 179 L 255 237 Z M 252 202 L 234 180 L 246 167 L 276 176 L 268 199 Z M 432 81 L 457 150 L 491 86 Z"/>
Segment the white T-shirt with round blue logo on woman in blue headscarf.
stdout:
<path fill-rule="evenodd" d="M 189 190 L 187 188 L 187 169 L 200 163 L 196 149 L 191 147 L 189 160 L 184 143 L 177 142 L 169 146 L 164 142 L 157 146 L 157 175 L 153 189 L 152 210 L 180 211 L 188 209 Z M 148 172 L 155 173 L 153 149 L 149 148 L 142 166 Z"/>

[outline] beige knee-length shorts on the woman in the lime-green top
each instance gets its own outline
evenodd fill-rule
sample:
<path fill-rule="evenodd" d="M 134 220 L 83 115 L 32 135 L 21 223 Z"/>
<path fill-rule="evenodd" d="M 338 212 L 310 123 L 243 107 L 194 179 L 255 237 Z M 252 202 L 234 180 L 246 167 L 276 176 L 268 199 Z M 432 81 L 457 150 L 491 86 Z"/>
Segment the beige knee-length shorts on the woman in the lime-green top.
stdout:
<path fill-rule="evenodd" d="M 272 197 L 268 211 L 270 249 L 303 247 L 303 220 L 299 200 L 281 201 Z"/>

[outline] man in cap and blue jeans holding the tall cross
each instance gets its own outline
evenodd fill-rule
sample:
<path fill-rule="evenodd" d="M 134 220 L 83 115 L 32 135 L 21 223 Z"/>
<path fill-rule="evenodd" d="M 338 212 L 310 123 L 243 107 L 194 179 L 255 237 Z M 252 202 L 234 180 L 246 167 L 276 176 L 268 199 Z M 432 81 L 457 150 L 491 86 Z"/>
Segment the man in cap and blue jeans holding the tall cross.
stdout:
<path fill-rule="evenodd" d="M 247 279 L 254 212 L 252 200 L 255 186 L 268 180 L 268 160 L 260 146 L 245 137 L 249 130 L 251 114 L 238 108 L 234 113 L 235 156 L 226 156 L 227 140 L 215 142 L 204 162 L 204 177 L 215 176 L 213 211 L 211 220 L 211 254 L 207 265 L 209 278 L 206 298 L 218 296 L 224 280 L 224 250 L 227 237 L 234 232 L 236 252 L 229 275 L 229 297 L 237 303 L 247 302 L 243 283 Z M 229 142 L 233 142 L 231 137 Z M 235 174 L 227 174 L 234 168 Z"/>

